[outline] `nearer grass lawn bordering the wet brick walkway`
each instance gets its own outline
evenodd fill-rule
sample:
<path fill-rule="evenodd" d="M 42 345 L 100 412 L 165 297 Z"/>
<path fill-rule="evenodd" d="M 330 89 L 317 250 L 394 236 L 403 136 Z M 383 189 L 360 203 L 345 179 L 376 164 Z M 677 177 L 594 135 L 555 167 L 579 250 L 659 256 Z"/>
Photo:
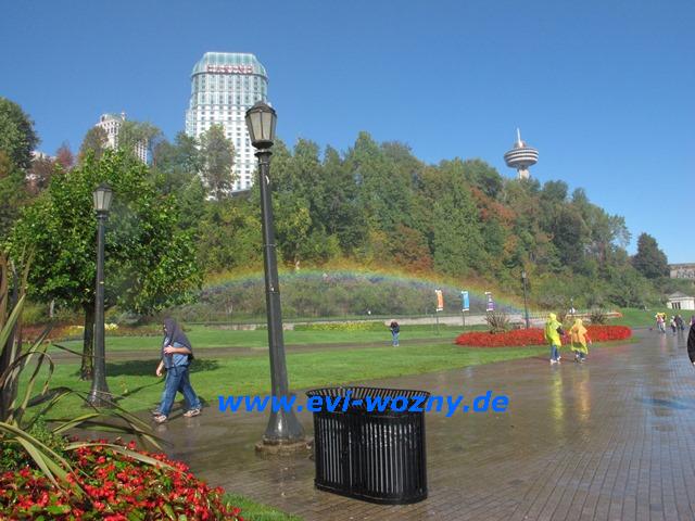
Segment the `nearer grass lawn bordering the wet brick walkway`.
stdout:
<path fill-rule="evenodd" d="M 525 358 L 545 351 L 544 346 L 481 350 L 445 342 L 289 353 L 287 364 L 291 387 L 301 390 Z M 154 376 L 156 364 L 156 355 L 152 360 L 106 364 L 110 391 L 122 396 L 119 404 L 125 409 L 136 411 L 157 404 L 163 382 Z M 78 364 L 61 361 L 55 366 L 51 386 L 64 385 L 88 392 L 90 384 L 78 379 Z M 191 368 L 191 381 L 201 398 L 212 407 L 217 407 L 219 395 L 267 394 L 270 387 L 268 357 L 265 353 L 215 358 L 201 354 Z M 51 416 L 68 415 L 76 406 L 77 399 L 66 398 Z"/>

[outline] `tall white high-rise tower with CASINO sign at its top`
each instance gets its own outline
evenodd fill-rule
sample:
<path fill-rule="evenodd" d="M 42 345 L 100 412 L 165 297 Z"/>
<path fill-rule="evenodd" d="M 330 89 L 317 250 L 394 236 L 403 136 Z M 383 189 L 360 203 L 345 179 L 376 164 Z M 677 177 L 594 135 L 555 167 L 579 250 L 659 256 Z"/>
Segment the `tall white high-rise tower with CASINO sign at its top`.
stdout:
<path fill-rule="evenodd" d="M 266 101 L 267 94 L 268 76 L 253 54 L 206 52 L 193 66 L 186 134 L 198 139 L 212 125 L 225 127 L 237 153 L 232 191 L 253 185 L 255 161 L 244 117 L 254 103 Z"/>

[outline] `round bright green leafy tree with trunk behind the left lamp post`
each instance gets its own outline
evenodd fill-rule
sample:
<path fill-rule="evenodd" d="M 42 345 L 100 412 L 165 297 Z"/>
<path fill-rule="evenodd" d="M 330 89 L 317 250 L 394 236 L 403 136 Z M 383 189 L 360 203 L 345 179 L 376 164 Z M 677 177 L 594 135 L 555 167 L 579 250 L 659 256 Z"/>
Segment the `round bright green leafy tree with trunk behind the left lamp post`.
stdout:
<path fill-rule="evenodd" d="M 162 196 L 149 169 L 123 152 L 89 154 L 71 171 L 54 176 L 12 234 L 16 252 L 33 251 L 29 291 L 85 313 L 81 377 L 91 378 L 96 229 L 92 191 L 114 190 L 105 244 L 106 306 L 148 314 L 185 301 L 200 284 L 192 237 L 177 228 L 178 205 Z"/>

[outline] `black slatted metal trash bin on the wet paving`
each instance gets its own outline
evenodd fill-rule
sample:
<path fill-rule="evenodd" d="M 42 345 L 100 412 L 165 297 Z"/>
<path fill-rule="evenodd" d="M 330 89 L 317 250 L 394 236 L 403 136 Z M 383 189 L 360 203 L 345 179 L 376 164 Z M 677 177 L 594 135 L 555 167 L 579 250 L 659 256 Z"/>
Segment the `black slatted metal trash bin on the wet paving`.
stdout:
<path fill-rule="evenodd" d="M 315 389 L 306 395 L 324 399 L 321 410 L 314 412 L 316 488 L 391 505 L 427 498 L 425 414 L 409 408 L 420 396 L 420 408 L 425 408 L 429 393 L 350 386 Z M 369 412 L 367 396 L 404 397 L 396 408 L 403 408 L 404 402 L 407 407 Z M 333 411 L 327 410 L 326 397 L 331 404 L 338 399 Z"/>

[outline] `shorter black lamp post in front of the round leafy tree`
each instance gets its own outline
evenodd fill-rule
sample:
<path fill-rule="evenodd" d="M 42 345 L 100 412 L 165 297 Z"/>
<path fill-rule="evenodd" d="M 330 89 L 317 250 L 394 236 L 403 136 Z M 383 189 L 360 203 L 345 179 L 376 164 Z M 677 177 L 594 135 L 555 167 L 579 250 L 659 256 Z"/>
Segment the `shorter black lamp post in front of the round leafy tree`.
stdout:
<path fill-rule="evenodd" d="M 111 393 L 106 385 L 106 350 L 104 346 L 104 228 L 111 207 L 113 191 L 102 182 L 93 192 L 94 212 L 97 212 L 97 289 L 94 307 L 94 371 L 89 392 L 89 403 L 94 406 L 108 406 Z"/>

